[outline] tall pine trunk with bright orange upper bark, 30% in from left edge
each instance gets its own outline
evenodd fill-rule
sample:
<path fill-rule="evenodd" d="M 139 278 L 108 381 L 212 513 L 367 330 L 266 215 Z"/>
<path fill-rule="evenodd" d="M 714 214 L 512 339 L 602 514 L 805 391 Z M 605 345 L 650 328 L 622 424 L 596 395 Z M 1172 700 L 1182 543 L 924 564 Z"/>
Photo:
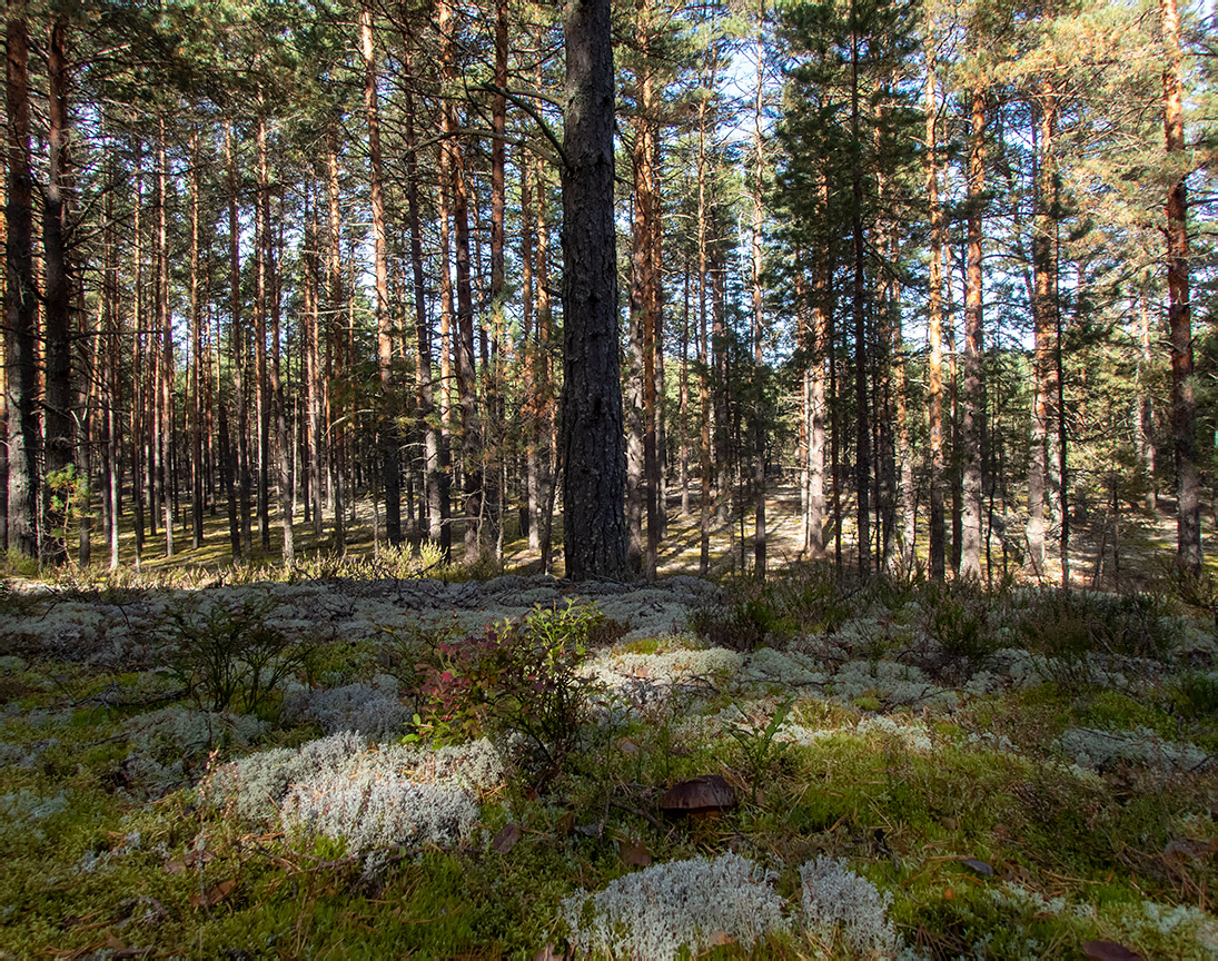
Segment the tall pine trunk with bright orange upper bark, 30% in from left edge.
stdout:
<path fill-rule="evenodd" d="M 376 54 L 373 49 L 373 15 L 365 4 L 359 15 L 361 49 L 364 56 L 364 113 L 368 122 L 368 184 L 373 212 L 373 258 L 376 269 L 376 368 L 380 375 L 378 443 L 381 484 L 385 488 L 385 535 L 391 546 L 402 543 L 402 468 L 398 432 L 391 398 L 393 389 L 392 318 L 389 314 L 389 255 L 386 251 L 384 173 L 380 145 L 380 113 L 376 97 Z"/>

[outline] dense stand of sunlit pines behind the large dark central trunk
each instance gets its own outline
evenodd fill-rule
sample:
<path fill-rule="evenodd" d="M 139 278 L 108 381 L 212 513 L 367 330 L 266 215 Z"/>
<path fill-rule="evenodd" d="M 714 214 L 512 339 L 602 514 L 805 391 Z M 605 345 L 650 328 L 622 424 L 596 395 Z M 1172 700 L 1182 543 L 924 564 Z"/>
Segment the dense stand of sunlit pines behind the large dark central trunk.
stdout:
<path fill-rule="evenodd" d="M 234 560 L 290 565 L 370 502 L 378 547 L 519 536 L 551 570 L 559 12 L 12 0 L 10 555 L 138 566 L 218 516 Z M 782 491 L 804 554 L 865 572 L 1001 552 L 1068 582 L 1072 519 L 1161 507 L 1200 571 L 1214 26 L 1175 0 L 619 5 L 632 568 L 680 523 L 702 572 L 738 530 L 764 574 Z"/>

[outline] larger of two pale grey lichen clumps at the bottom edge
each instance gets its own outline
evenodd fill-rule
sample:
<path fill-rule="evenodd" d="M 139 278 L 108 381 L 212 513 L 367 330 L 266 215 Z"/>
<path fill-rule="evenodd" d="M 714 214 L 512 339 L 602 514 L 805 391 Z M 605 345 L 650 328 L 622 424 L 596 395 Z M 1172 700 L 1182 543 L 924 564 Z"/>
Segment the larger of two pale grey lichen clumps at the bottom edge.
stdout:
<path fill-rule="evenodd" d="M 560 915 L 580 952 L 665 961 L 698 955 L 723 938 L 752 949 L 782 931 L 783 900 L 772 875 L 738 854 L 654 865 L 590 895 L 563 900 Z"/>

